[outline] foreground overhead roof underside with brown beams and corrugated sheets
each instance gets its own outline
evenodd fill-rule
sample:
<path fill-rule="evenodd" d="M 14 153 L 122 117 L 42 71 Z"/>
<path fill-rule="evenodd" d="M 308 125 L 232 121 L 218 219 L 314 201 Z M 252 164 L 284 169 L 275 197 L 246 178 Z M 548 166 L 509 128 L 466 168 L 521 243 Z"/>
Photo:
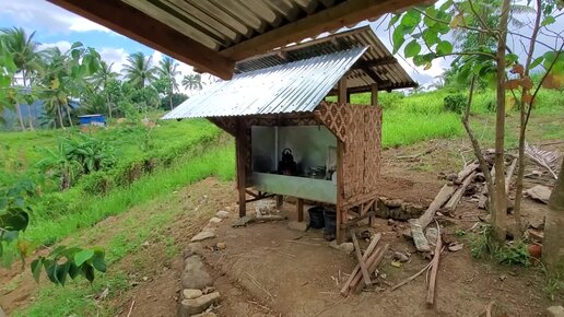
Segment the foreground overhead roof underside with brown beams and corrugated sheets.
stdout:
<path fill-rule="evenodd" d="M 430 0 L 48 0 L 222 79 L 235 62 Z M 248 2 L 248 3 L 247 3 Z"/>

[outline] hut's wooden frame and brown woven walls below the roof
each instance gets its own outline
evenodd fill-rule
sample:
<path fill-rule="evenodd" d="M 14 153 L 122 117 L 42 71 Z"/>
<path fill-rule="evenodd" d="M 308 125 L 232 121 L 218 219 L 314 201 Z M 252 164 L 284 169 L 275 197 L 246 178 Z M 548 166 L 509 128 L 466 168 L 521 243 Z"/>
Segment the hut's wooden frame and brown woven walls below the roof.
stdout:
<path fill-rule="evenodd" d="M 377 105 L 377 86 L 372 87 L 372 105 L 346 103 L 346 75 L 339 81 L 338 89 L 337 103 L 321 102 L 310 113 L 208 118 L 235 138 L 239 216 L 246 215 L 247 202 L 277 196 L 280 206 L 280 195 L 287 193 L 251 191 L 257 184 L 250 163 L 250 128 L 325 126 L 337 138 L 337 186 L 334 200 L 318 201 L 332 202 L 336 206 L 338 242 L 345 237 L 345 231 L 351 224 L 363 219 L 372 219 L 376 209 L 381 148 L 381 107 Z M 309 179 L 302 178 L 299 181 L 307 183 Z M 316 184 L 312 183 L 312 186 Z M 250 198 L 247 198 L 248 196 Z M 297 219 L 303 221 L 304 199 L 310 198 L 301 197 L 298 190 L 295 197 Z"/>

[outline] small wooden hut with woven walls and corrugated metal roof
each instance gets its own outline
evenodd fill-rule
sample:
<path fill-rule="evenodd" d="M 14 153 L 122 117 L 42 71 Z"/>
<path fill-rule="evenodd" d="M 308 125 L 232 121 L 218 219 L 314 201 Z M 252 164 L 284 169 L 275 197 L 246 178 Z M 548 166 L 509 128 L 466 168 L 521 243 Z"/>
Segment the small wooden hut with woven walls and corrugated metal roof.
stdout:
<path fill-rule="evenodd" d="M 204 117 L 235 138 L 239 216 L 247 202 L 272 196 L 279 203 L 282 196 L 297 198 L 298 221 L 304 200 L 334 204 L 339 240 L 376 208 L 378 91 L 415 85 L 365 26 L 244 60 L 233 80 L 164 119 Z M 360 92 L 372 92 L 369 105 L 350 104 Z M 326 101 L 330 95 L 337 102 Z"/>

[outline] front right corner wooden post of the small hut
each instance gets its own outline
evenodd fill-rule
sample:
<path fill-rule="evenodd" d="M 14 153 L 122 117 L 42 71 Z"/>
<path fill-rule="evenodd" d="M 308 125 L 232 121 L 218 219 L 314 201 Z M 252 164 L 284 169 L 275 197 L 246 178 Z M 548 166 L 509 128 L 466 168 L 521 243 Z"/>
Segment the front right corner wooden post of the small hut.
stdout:
<path fill-rule="evenodd" d="M 339 80 L 339 92 L 337 94 L 337 102 L 344 104 L 346 102 L 346 74 Z M 343 164 L 344 164 L 344 144 L 342 141 L 337 139 L 337 244 L 343 243 L 344 228 L 341 227 L 341 223 L 346 221 L 346 216 L 343 214 L 346 212 L 343 206 Z"/>

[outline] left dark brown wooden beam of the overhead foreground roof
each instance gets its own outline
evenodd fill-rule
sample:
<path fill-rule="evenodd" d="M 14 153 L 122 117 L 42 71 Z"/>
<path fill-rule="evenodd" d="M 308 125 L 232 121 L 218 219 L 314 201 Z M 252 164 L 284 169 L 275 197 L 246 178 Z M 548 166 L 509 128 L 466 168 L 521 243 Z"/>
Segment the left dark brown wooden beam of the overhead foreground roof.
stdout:
<path fill-rule="evenodd" d="M 234 61 L 120 0 L 48 0 L 201 71 L 228 80 Z"/>

